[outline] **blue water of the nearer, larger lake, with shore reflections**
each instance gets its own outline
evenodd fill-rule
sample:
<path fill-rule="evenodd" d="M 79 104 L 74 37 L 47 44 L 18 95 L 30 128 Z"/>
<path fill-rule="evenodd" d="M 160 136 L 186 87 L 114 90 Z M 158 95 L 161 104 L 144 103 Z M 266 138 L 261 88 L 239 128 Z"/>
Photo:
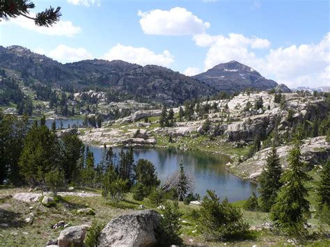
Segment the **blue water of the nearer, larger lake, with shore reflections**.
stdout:
<path fill-rule="evenodd" d="M 100 162 L 103 148 L 90 145 L 90 150 L 94 152 L 95 163 Z M 113 148 L 117 156 L 120 150 Z M 151 161 L 160 180 L 178 171 L 180 161 L 183 161 L 185 172 L 194 178 L 194 191 L 201 196 L 205 195 L 207 189 L 212 189 L 221 200 L 227 197 L 233 202 L 245 200 L 257 191 L 255 183 L 242 180 L 226 170 L 225 164 L 229 161 L 226 155 L 166 148 L 134 148 L 134 161 L 139 159 Z"/>

